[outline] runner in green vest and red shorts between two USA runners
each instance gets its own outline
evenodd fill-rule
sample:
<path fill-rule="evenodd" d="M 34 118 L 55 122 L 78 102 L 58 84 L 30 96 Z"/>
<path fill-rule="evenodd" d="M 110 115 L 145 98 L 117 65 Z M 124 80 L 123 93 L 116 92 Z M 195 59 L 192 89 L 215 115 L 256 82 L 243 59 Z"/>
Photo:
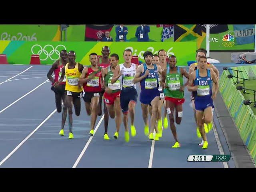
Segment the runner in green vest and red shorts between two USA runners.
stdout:
<path fill-rule="evenodd" d="M 179 148 L 180 142 L 178 141 L 176 127 L 174 124 L 174 110 L 175 110 L 175 120 L 176 124 L 180 124 L 182 118 L 182 104 L 184 103 L 184 87 L 183 76 L 189 79 L 189 74 L 185 69 L 176 66 L 177 60 L 176 56 L 172 55 L 168 58 L 167 69 L 164 70 L 162 74 L 162 82 L 165 91 L 165 100 L 166 100 L 166 111 L 170 120 L 170 128 L 175 139 L 175 144 L 172 148 Z"/>

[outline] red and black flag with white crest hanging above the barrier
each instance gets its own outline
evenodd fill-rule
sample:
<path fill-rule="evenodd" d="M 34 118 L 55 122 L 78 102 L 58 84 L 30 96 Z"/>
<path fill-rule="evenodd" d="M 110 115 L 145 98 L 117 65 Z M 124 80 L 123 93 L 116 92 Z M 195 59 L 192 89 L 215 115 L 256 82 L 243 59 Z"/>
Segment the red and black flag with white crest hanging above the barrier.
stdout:
<path fill-rule="evenodd" d="M 114 25 L 86 25 L 85 41 L 102 40 L 106 31 L 111 31 Z"/>

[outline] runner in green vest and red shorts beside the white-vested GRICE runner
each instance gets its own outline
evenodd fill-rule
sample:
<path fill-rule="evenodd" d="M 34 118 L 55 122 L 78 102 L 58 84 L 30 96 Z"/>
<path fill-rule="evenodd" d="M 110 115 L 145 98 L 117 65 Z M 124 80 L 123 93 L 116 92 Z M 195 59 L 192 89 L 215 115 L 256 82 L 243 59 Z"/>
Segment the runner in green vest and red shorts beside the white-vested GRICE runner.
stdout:
<path fill-rule="evenodd" d="M 118 139 L 118 132 L 120 125 L 122 123 L 122 110 L 120 106 L 120 79 L 118 79 L 114 84 L 111 84 L 111 79 L 114 74 L 114 70 L 119 62 L 118 54 L 110 55 L 110 66 L 104 68 L 102 71 L 102 77 L 104 79 L 104 102 L 106 103 L 108 114 L 110 118 L 115 118 L 116 116 L 116 132 L 114 138 Z M 120 77 L 121 78 L 121 77 Z M 104 139 L 109 140 L 108 133 L 105 130 Z"/>

